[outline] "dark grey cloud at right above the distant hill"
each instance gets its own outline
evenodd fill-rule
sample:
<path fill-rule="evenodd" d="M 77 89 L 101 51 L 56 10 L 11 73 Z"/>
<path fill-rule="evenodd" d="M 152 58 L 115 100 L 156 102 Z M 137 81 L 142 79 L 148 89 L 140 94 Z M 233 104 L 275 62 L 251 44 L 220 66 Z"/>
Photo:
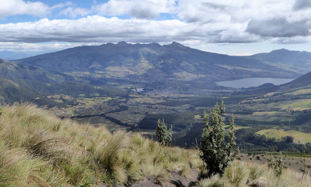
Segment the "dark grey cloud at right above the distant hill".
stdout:
<path fill-rule="evenodd" d="M 310 36 L 310 20 L 288 22 L 286 18 L 272 18 L 267 20 L 251 20 L 246 32 L 269 37 Z"/>

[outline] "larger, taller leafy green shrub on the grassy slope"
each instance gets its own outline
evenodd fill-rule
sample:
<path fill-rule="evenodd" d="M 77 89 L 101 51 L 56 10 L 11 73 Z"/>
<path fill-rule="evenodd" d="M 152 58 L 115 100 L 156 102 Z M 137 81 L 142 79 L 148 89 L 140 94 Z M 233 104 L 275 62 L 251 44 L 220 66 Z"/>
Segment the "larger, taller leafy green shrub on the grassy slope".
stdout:
<path fill-rule="evenodd" d="M 218 103 L 212 109 L 210 116 L 211 119 L 204 111 L 204 124 L 201 146 L 200 146 L 200 157 L 204 162 L 204 166 L 207 170 L 207 175 L 211 176 L 214 174 L 222 175 L 225 168 L 232 163 L 238 148 L 234 151 L 236 146 L 235 142 L 235 130 L 234 117 L 230 120 L 230 128 L 227 133 L 228 141 L 225 142 L 225 117 L 222 115 L 225 113 L 224 102 L 221 101 L 219 107 Z"/>

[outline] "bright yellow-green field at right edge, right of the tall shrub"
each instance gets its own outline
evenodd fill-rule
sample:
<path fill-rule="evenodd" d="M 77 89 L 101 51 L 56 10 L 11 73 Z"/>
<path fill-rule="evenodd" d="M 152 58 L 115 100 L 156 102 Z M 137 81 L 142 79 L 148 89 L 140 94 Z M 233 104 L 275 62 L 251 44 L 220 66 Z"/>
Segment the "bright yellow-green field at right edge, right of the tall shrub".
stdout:
<path fill-rule="evenodd" d="M 265 135 L 268 138 L 281 139 L 281 137 L 292 136 L 296 143 L 308 143 L 311 142 L 311 133 L 300 132 L 295 130 L 285 131 L 284 129 L 267 129 L 256 132 L 258 134 Z"/>

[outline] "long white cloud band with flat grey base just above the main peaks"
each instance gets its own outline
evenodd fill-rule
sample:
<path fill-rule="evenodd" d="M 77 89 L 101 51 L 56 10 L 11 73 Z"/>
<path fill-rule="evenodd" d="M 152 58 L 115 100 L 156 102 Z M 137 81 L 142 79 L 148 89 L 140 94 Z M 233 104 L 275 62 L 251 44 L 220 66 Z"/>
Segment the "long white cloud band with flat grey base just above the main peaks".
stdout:
<path fill-rule="evenodd" d="M 119 19 L 88 16 L 75 20 L 41 19 L 37 22 L 0 24 L 1 42 L 165 42 L 202 40 L 217 42 L 248 42 L 254 36 L 239 34 L 244 25 L 187 23 L 180 20 Z M 236 34 L 230 34 L 236 33 Z M 251 38 L 251 39 L 250 39 Z"/>

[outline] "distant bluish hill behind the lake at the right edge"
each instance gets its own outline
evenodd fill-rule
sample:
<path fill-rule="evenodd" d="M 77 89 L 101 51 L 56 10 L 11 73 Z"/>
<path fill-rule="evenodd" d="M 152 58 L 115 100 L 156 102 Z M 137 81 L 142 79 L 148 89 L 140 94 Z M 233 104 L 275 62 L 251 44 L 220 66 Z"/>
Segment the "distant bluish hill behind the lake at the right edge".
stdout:
<path fill-rule="evenodd" d="M 307 51 L 293 51 L 287 49 L 272 50 L 269 53 L 258 53 L 246 58 L 263 60 L 271 63 L 278 63 L 289 67 L 294 67 L 294 70 L 299 70 L 303 73 L 311 71 L 311 53 Z"/>

